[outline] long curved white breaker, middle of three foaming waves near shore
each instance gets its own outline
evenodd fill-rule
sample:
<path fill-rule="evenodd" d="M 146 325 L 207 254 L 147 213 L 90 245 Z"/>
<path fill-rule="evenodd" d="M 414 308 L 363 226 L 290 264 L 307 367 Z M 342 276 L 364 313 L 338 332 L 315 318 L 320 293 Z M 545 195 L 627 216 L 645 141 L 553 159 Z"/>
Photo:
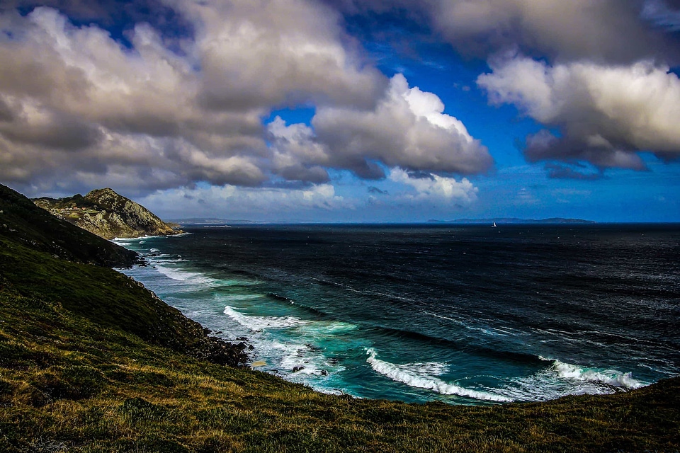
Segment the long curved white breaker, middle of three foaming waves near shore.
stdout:
<path fill-rule="evenodd" d="M 375 372 L 387 376 L 393 381 L 402 382 L 412 387 L 418 387 L 419 389 L 433 390 L 443 395 L 467 396 L 468 398 L 486 401 L 512 401 L 511 398 L 507 398 L 506 396 L 492 394 L 486 391 L 465 389 L 464 387 L 444 382 L 436 377 L 420 374 L 414 371 L 414 364 L 395 365 L 390 362 L 385 362 L 376 357 L 377 354 L 373 348 L 367 349 L 366 353 L 368 354 L 366 362 L 370 364 L 370 367 L 373 368 Z"/>

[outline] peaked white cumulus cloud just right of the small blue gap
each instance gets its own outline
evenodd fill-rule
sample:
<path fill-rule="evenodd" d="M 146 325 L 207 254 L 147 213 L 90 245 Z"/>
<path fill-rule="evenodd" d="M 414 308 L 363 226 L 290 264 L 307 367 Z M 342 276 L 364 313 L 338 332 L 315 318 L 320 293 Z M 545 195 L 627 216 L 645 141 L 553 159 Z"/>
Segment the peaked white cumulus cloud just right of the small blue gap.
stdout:
<path fill-rule="evenodd" d="M 328 149 L 319 157 L 364 178 L 384 177 L 376 162 L 416 171 L 487 171 L 492 166 L 487 148 L 443 110 L 435 94 L 409 88 L 397 74 L 373 110 L 317 109 L 312 125 L 318 142 Z"/>

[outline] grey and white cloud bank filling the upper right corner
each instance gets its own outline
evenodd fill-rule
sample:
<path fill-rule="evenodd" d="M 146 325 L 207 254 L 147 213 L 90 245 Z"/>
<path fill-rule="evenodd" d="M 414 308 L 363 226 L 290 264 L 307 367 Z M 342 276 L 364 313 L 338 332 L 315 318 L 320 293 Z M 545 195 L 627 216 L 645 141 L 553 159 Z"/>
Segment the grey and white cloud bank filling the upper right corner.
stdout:
<path fill-rule="evenodd" d="M 407 11 L 460 54 L 485 59 L 477 85 L 545 130 L 529 162 L 645 168 L 639 151 L 676 159 L 680 4 L 669 0 L 331 1 L 348 15 Z M 550 132 L 552 131 L 552 132 Z M 554 168 L 553 168 L 554 170 Z M 551 176 L 582 173 L 549 171 Z M 594 179 L 593 176 L 588 178 Z"/>

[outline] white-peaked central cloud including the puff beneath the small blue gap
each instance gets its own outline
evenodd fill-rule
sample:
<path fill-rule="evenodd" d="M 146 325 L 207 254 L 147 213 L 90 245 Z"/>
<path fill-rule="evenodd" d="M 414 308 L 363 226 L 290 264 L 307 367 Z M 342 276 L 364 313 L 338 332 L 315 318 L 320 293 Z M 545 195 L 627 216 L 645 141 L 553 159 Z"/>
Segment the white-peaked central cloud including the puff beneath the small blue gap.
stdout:
<path fill-rule="evenodd" d="M 414 171 L 480 173 L 492 165 L 487 148 L 457 118 L 443 113 L 434 93 L 409 88 L 395 75 L 375 108 L 317 108 L 312 127 L 286 125 L 280 117 L 267 129 L 273 166 L 287 179 L 313 183 L 328 178 L 324 168 L 382 178 L 384 166 Z"/>

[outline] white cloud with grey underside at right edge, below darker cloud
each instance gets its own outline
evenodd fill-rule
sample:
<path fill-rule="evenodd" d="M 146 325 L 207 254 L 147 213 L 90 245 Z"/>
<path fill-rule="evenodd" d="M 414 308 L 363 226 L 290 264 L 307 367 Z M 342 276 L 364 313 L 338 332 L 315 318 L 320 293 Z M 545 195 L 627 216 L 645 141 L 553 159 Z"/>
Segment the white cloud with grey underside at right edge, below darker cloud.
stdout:
<path fill-rule="evenodd" d="M 560 134 L 527 137 L 529 161 L 588 161 L 643 169 L 637 151 L 680 155 L 680 79 L 668 67 L 572 62 L 550 66 L 515 55 L 497 59 L 477 84 L 492 103 L 513 103 Z"/>

